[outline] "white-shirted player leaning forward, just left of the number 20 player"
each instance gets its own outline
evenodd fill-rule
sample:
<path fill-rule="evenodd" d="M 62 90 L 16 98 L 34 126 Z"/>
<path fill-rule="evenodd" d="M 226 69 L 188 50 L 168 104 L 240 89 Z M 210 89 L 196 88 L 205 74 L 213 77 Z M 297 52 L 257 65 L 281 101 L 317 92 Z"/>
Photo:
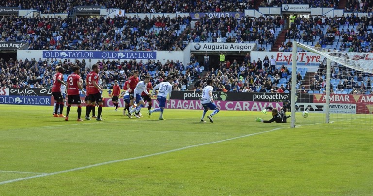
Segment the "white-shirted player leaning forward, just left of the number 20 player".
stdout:
<path fill-rule="evenodd" d="M 131 118 L 131 115 L 134 114 L 136 118 L 140 118 L 140 110 L 142 107 L 145 106 L 145 102 L 141 97 L 141 93 L 145 92 L 145 94 L 149 95 L 149 92 L 146 90 L 146 87 L 148 85 L 148 82 L 150 80 L 150 76 L 145 76 L 145 79 L 139 83 L 137 83 L 135 89 L 134 89 L 134 101 L 137 104 L 137 107 L 133 108 L 126 116 L 128 118 Z"/>

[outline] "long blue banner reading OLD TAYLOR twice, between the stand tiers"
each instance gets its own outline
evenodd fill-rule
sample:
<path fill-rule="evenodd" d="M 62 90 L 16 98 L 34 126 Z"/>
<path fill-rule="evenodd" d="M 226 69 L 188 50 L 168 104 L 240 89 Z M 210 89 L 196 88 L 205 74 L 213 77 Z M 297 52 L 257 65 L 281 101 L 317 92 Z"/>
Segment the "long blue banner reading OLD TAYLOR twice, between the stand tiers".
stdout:
<path fill-rule="evenodd" d="M 43 58 L 74 59 L 151 59 L 157 58 L 152 51 L 43 51 Z"/>

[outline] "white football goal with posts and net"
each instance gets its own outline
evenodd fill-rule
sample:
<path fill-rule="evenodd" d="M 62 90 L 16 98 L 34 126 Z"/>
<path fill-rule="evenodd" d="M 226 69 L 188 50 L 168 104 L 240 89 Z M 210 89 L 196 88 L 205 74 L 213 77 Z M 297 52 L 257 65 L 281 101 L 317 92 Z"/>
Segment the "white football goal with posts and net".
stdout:
<path fill-rule="evenodd" d="M 291 127 L 325 124 L 325 127 L 372 129 L 373 53 L 318 48 L 293 42 L 293 56 L 299 51 L 317 54 L 319 65 L 301 68 L 292 61 Z M 315 67 L 317 66 L 317 67 Z M 308 117 L 302 116 L 303 112 Z"/>

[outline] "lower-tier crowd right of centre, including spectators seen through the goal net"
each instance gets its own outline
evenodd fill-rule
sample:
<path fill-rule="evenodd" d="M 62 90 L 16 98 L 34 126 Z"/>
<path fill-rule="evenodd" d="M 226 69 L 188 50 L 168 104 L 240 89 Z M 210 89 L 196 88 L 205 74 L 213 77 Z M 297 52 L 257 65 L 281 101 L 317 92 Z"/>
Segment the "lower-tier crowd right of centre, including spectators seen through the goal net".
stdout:
<path fill-rule="evenodd" d="M 217 70 L 212 69 L 206 77 L 195 83 L 196 91 L 204 88 L 205 81 L 214 81 L 214 91 L 223 92 L 291 92 L 291 71 L 285 65 L 271 66 L 274 59 L 266 56 L 263 60 L 251 60 L 250 54 L 245 56 L 242 63 L 227 60 L 220 63 Z M 325 61 L 326 62 L 326 61 Z M 308 72 L 310 74 L 310 72 Z M 356 71 L 339 64 L 331 67 L 332 93 L 348 91 L 348 93 L 364 94 L 372 92 L 372 76 L 369 73 Z M 305 75 L 296 74 L 296 88 L 299 92 L 308 93 L 320 91 L 325 93 L 326 69 L 321 63 L 318 71 L 306 81 Z M 336 84 L 336 82 L 340 84 Z"/>

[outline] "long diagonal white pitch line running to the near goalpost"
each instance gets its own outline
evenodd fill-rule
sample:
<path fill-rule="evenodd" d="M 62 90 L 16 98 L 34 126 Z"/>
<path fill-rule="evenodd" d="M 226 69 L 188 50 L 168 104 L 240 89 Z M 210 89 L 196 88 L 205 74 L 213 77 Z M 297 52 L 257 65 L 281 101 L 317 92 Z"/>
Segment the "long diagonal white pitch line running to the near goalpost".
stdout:
<path fill-rule="evenodd" d="M 92 168 L 92 167 L 98 167 L 98 166 L 102 166 L 102 165 L 107 165 L 107 164 L 112 164 L 112 163 L 117 163 L 117 162 L 123 162 L 123 161 L 127 161 L 127 160 L 136 160 L 136 159 L 142 159 L 142 158 L 146 158 L 146 157 L 153 157 L 153 156 L 156 156 L 156 155 L 163 155 L 163 154 L 166 154 L 166 153 L 185 150 L 185 149 L 188 149 L 188 148 L 193 148 L 193 147 L 198 147 L 198 146 L 203 146 L 203 145 L 209 145 L 209 144 L 214 144 L 214 143 L 221 143 L 221 142 L 236 140 L 236 139 L 245 138 L 245 137 L 249 137 L 249 136 L 254 136 L 254 135 L 258 135 L 258 134 L 268 133 L 268 132 L 276 131 L 276 130 L 283 129 L 283 128 L 286 128 L 286 127 L 275 128 L 275 129 L 271 129 L 269 131 L 262 131 L 262 132 L 258 132 L 258 133 L 247 134 L 247 135 L 238 136 L 238 137 L 234 137 L 234 138 L 229 138 L 229 139 L 225 139 L 225 140 L 219 140 L 219 141 L 215 141 L 215 142 L 190 145 L 190 146 L 186 146 L 186 147 L 182 147 L 182 148 L 176 148 L 176 149 L 173 149 L 173 150 L 157 152 L 157 153 L 153 153 L 153 154 L 149 154 L 149 155 L 143 155 L 143 156 L 121 159 L 121 160 L 112 160 L 112 161 L 108 161 L 108 162 L 97 163 L 97 164 L 88 165 L 88 166 L 84 166 L 84 167 L 77 167 L 77 168 L 68 169 L 68 170 L 59 171 L 59 172 L 52 172 L 52 173 L 40 174 L 40 175 L 30 176 L 30 177 L 25 177 L 25 178 L 17 178 L 17 179 L 7 180 L 7 181 L 0 182 L 0 185 L 12 183 L 12 182 L 17 182 L 17 181 L 22 181 L 22 180 L 33 179 L 33 178 L 53 176 L 53 175 L 56 175 L 56 174 L 73 172 L 73 171 L 78 171 L 78 170 L 83 170 L 83 169 L 89 169 L 89 168 Z"/>

